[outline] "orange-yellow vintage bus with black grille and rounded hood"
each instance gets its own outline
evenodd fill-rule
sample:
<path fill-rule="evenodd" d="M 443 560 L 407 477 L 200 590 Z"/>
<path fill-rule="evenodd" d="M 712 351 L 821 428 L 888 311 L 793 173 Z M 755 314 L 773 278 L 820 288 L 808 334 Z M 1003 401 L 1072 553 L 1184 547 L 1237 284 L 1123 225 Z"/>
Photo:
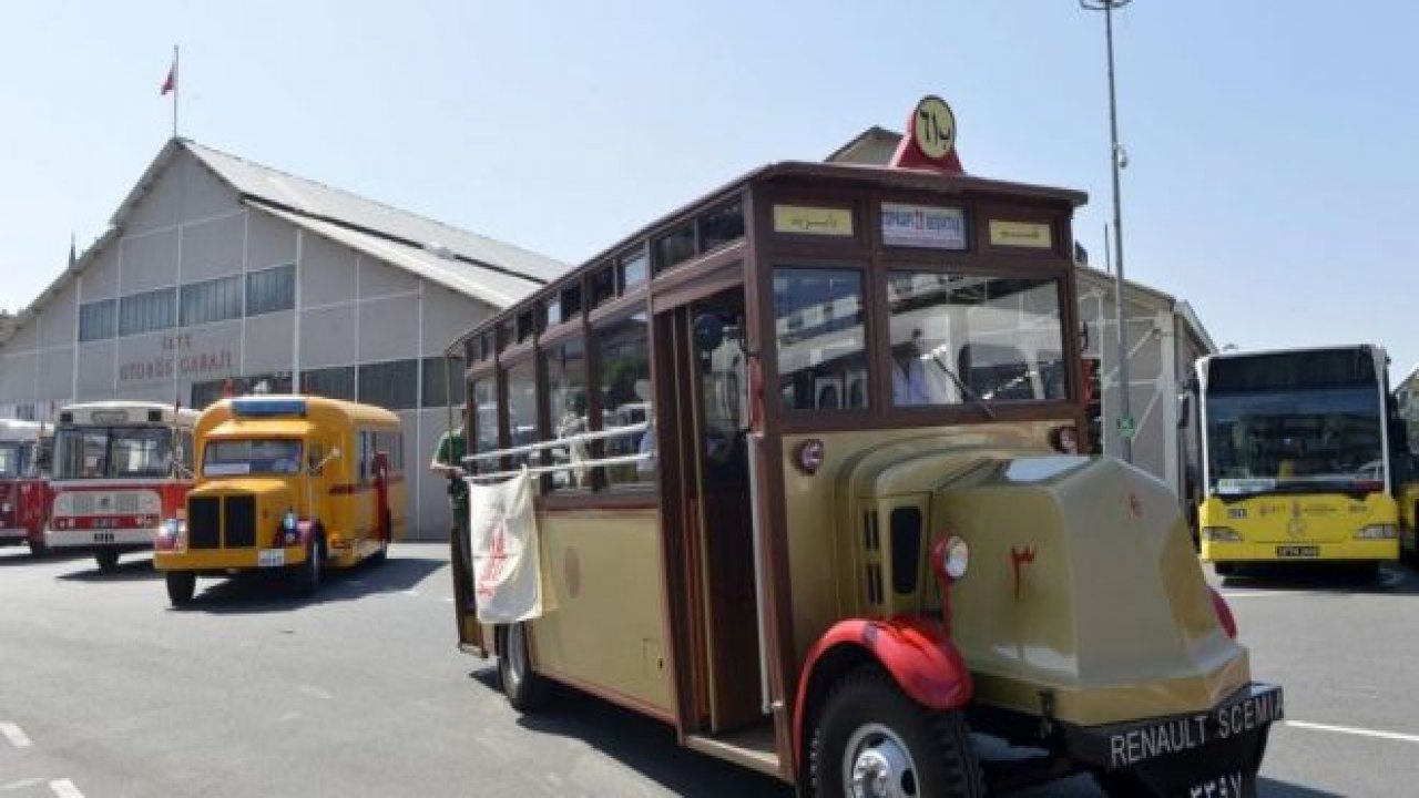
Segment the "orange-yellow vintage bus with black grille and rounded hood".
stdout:
<path fill-rule="evenodd" d="M 325 568 L 382 561 L 403 537 L 403 432 L 389 410 L 240 396 L 203 410 L 196 442 L 196 487 L 153 555 L 173 605 L 197 576 L 250 571 L 284 571 L 312 594 Z"/>

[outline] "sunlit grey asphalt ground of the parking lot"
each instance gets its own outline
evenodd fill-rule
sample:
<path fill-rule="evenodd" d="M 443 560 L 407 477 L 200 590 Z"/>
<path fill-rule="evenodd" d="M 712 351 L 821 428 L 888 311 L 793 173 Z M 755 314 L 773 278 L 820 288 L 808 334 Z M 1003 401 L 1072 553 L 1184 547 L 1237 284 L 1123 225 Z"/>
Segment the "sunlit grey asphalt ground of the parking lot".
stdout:
<path fill-rule="evenodd" d="M 1253 674 L 1287 690 L 1261 795 L 1419 794 L 1419 578 L 1222 588 Z M 201 581 L 182 612 L 145 557 L 105 575 L 0 550 L 0 798 L 494 794 L 790 792 L 586 696 L 514 713 L 492 663 L 454 649 L 441 545 L 399 545 L 314 601 Z M 1078 777 L 1023 795 L 1098 791 Z"/>

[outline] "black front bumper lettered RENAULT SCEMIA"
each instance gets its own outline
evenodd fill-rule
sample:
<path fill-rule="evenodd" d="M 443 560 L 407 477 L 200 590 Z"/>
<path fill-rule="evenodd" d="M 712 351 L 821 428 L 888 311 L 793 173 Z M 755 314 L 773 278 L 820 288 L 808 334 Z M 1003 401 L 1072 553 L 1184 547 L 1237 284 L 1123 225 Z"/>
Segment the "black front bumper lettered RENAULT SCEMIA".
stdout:
<path fill-rule="evenodd" d="M 1110 726 L 1064 726 L 1070 758 L 1100 774 L 1127 772 L 1156 795 L 1256 795 L 1281 687 L 1253 682 L 1210 710 Z"/>

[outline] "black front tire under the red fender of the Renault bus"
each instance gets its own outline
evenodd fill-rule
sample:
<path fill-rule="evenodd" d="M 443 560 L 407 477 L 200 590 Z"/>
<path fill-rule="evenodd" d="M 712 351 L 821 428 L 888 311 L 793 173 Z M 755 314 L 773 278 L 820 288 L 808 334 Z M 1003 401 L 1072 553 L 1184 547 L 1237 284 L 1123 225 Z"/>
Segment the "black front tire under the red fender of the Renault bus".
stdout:
<path fill-rule="evenodd" d="M 891 772 L 894 764 L 900 772 Z M 885 775 L 904 795 L 986 794 L 961 713 L 922 707 L 877 666 L 849 673 L 823 703 L 809 753 L 813 795 L 850 795 L 854 774 L 861 778 L 864 770 L 870 778 Z"/>

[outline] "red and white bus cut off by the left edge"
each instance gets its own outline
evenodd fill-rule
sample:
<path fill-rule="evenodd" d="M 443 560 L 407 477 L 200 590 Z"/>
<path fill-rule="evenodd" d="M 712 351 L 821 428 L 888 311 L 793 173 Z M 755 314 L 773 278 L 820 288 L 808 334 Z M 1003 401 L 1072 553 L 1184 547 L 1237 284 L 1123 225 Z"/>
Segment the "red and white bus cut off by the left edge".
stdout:
<path fill-rule="evenodd" d="M 0 419 L 0 545 L 27 544 L 44 554 L 53 446 L 54 427 Z"/>

